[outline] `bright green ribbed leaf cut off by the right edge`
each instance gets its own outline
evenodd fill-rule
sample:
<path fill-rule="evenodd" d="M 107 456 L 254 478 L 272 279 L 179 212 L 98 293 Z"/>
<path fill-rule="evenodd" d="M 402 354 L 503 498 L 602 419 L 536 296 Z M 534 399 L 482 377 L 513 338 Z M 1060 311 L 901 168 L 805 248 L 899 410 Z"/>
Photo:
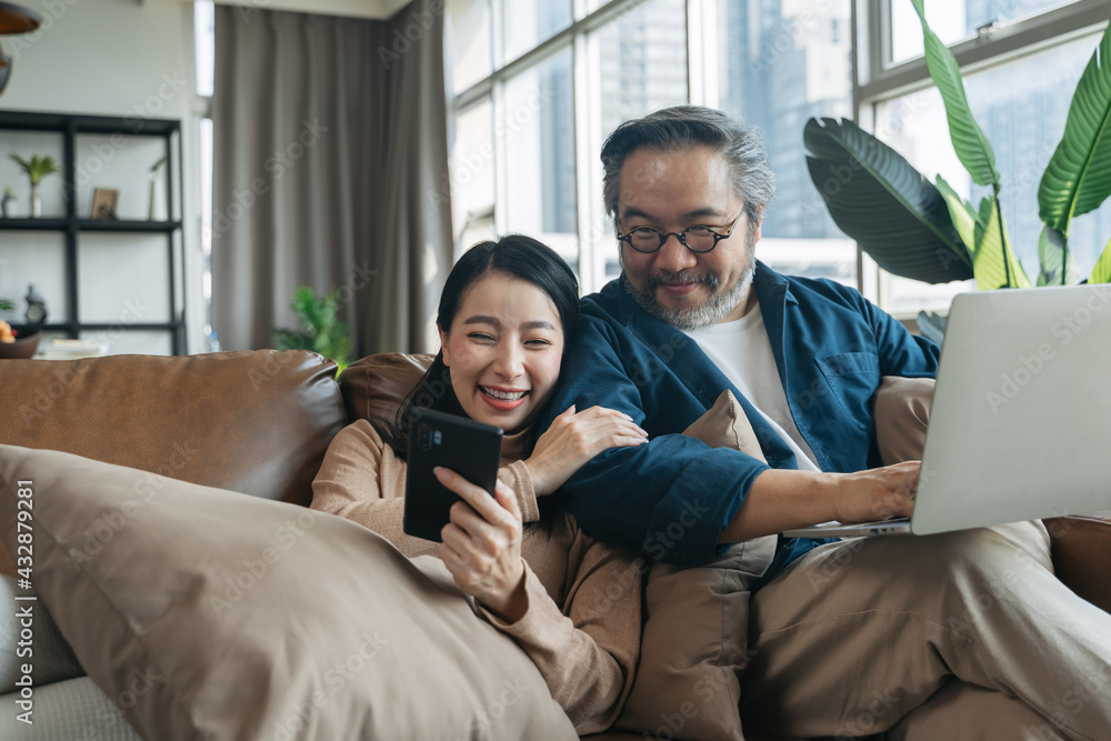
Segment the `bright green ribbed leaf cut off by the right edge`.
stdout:
<path fill-rule="evenodd" d="M 1068 237 L 1072 217 L 1111 196 L 1111 24 L 1077 84 L 1064 136 L 1038 187 L 1039 216 Z"/>

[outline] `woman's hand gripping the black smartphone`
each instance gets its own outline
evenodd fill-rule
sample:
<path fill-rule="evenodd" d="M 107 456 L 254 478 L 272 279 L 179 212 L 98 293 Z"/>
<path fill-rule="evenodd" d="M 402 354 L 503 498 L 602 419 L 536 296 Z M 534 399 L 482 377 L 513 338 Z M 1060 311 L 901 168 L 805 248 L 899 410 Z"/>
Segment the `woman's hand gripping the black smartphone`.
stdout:
<path fill-rule="evenodd" d="M 517 498 L 501 481 L 490 497 L 453 471 L 437 467 L 433 472 L 440 483 L 463 499 L 451 505 L 451 522 L 440 531 L 440 560 L 461 590 L 507 621 L 517 622 L 529 607 Z"/>

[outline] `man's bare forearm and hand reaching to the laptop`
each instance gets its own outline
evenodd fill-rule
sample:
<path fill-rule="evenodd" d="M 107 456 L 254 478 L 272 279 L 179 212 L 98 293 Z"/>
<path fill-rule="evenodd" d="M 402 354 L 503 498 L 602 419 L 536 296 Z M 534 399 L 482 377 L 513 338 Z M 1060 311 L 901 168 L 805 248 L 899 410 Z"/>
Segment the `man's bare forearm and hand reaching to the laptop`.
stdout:
<path fill-rule="evenodd" d="M 907 461 L 855 473 L 769 469 L 718 538 L 737 543 L 812 524 L 910 517 L 921 463 Z"/>

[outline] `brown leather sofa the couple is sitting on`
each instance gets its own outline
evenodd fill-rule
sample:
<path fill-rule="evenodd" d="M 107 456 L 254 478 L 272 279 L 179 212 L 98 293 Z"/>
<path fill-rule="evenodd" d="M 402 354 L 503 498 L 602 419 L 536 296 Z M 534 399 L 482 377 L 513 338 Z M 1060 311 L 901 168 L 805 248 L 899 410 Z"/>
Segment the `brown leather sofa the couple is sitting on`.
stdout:
<path fill-rule="evenodd" d="M 389 413 L 427 359 L 303 351 L 0 361 L 0 443 L 46 448 L 307 505 L 331 439 Z M 1049 521 L 1062 581 L 1111 611 L 1111 521 Z M 0 548 L 0 570 L 13 573 Z M 607 733 L 597 739 L 635 739 Z"/>

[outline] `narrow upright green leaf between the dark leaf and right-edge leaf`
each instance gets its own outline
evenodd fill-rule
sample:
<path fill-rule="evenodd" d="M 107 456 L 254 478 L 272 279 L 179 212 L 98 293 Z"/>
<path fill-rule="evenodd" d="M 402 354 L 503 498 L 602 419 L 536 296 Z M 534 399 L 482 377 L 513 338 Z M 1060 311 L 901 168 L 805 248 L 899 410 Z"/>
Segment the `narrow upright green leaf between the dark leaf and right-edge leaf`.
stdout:
<path fill-rule="evenodd" d="M 949 47 L 938 38 L 925 22 L 923 0 L 911 0 L 914 10 L 922 22 L 922 39 L 925 46 L 925 66 L 930 70 L 933 83 L 938 86 L 941 99 L 945 102 L 945 118 L 949 119 L 949 137 L 961 164 L 972 176 L 972 182 L 978 186 L 999 186 L 999 172 L 995 170 L 995 153 L 991 149 L 988 137 L 984 136 L 969 108 L 964 94 L 964 82 L 961 79 L 961 68 L 957 63 Z"/>

